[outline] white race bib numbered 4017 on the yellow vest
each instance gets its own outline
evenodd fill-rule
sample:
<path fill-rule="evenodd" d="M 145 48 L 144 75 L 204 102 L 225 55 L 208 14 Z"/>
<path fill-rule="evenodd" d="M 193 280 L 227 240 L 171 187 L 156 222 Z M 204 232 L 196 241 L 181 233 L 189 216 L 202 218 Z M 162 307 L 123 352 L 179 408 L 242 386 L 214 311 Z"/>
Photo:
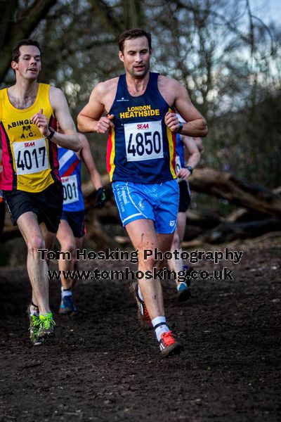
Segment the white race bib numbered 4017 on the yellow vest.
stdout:
<path fill-rule="evenodd" d="M 46 139 L 13 142 L 15 172 L 32 174 L 48 169 Z"/>

